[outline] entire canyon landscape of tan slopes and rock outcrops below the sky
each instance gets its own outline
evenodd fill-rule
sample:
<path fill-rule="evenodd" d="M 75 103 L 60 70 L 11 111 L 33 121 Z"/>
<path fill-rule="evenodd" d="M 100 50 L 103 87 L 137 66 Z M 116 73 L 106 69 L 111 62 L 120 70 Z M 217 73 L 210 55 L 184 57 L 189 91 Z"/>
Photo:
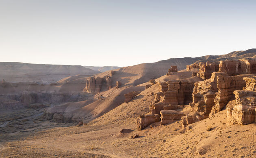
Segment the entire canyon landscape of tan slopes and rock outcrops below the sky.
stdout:
<path fill-rule="evenodd" d="M 104 72 L 1 64 L 2 157 L 256 156 L 256 49 Z"/>

